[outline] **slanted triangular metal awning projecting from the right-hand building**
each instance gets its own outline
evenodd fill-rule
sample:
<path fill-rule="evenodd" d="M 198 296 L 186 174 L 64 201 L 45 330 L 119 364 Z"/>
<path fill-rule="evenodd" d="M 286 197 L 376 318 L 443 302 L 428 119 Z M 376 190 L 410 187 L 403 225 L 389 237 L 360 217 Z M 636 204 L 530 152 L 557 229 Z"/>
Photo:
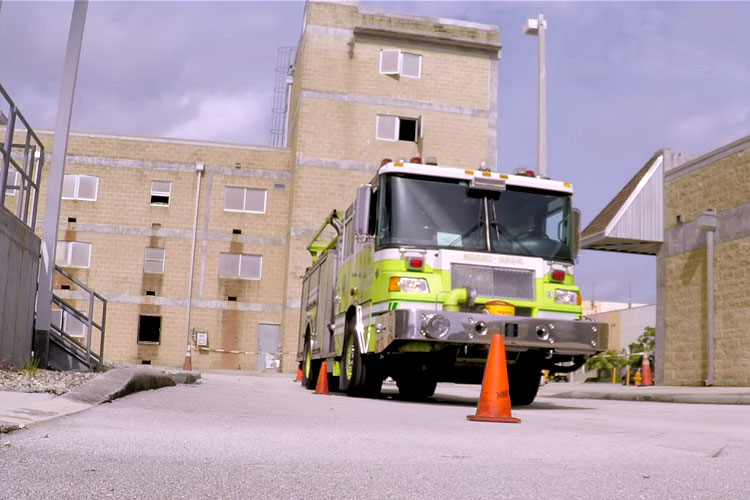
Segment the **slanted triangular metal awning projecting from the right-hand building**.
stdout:
<path fill-rule="evenodd" d="M 581 248 L 656 255 L 664 238 L 664 155 L 654 154 L 594 217 Z"/>

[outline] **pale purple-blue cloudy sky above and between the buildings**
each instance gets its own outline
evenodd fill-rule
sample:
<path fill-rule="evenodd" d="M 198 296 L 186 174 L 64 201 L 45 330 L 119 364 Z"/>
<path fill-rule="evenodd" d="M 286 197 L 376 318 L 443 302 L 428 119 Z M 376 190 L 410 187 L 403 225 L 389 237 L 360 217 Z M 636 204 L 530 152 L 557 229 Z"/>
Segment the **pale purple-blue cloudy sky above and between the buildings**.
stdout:
<path fill-rule="evenodd" d="M 499 27 L 498 170 L 536 166 L 544 14 L 548 173 L 583 227 L 659 149 L 693 155 L 750 134 L 750 2 L 370 2 Z M 0 84 L 55 122 L 73 2 L 0 0 Z M 89 3 L 71 130 L 269 145 L 277 49 L 303 2 Z M 9 50 L 10 49 L 10 50 Z M 656 301 L 654 257 L 583 251 L 584 299 Z"/>

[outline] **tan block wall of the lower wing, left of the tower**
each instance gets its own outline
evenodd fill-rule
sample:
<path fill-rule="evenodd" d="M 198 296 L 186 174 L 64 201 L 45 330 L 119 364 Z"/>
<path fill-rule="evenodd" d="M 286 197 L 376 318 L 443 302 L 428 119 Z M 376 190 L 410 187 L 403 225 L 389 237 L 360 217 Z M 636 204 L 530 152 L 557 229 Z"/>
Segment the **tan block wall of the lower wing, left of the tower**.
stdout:
<path fill-rule="evenodd" d="M 43 137 L 52 142 L 48 134 Z M 291 191 L 288 150 L 74 133 L 68 151 L 66 174 L 99 179 L 96 201 L 61 202 L 58 240 L 92 245 L 90 268 L 67 271 L 109 300 L 105 359 L 182 364 L 196 162 L 205 165 L 205 172 L 198 207 L 191 330 L 208 332 L 213 349 L 256 352 L 258 323 L 281 322 Z M 151 205 L 153 180 L 172 183 L 168 206 Z M 225 211 L 226 186 L 265 190 L 266 212 Z M 46 189 L 42 196 L 46 198 Z M 41 207 L 39 229 L 44 218 Z M 71 217 L 75 222 L 69 221 Z M 164 273 L 144 272 L 147 247 L 165 249 Z M 222 252 L 260 255 L 261 279 L 220 278 Z M 59 289 L 61 284 L 55 283 L 55 293 L 85 309 L 85 303 L 75 301 L 80 295 L 75 286 L 66 291 Z M 161 316 L 158 344 L 138 342 L 140 315 Z M 195 362 L 205 368 L 253 369 L 256 356 L 211 351 L 196 354 Z"/>

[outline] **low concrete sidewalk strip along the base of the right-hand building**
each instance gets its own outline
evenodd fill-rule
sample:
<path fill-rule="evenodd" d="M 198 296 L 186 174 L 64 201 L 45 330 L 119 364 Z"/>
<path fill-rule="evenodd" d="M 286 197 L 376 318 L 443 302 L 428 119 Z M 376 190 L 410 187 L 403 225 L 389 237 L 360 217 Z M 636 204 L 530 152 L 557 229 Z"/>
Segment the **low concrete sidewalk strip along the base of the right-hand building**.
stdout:
<path fill-rule="evenodd" d="M 750 387 L 634 387 L 622 384 L 557 382 L 539 388 L 539 397 L 566 399 L 612 399 L 617 401 L 656 401 L 750 405 Z"/>

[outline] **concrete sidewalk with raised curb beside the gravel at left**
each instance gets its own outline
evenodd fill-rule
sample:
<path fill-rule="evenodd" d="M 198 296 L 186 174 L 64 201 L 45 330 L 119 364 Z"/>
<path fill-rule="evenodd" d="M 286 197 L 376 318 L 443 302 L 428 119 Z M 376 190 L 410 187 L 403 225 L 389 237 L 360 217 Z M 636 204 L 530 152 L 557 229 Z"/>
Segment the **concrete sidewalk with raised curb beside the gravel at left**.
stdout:
<path fill-rule="evenodd" d="M 164 373 L 148 367 L 116 368 L 59 397 L 0 391 L 0 434 L 78 413 L 134 392 L 194 383 L 200 377 L 198 372 Z"/>

